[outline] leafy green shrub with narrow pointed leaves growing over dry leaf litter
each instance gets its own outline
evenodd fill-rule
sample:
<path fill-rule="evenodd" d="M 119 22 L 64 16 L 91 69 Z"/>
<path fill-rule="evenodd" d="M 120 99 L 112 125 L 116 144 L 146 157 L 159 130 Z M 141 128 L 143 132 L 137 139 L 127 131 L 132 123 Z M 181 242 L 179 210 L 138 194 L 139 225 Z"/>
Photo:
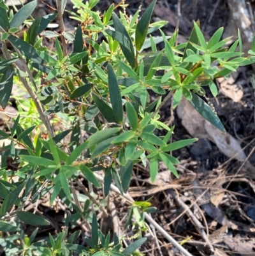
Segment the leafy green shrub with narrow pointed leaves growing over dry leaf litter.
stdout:
<path fill-rule="evenodd" d="M 122 12 L 118 17 L 113 4 L 101 15 L 94 11 L 99 0 L 71 2 L 75 11 L 69 11 L 70 17 L 80 24 L 75 34 L 64 32 L 65 1 L 57 1 L 55 12 L 35 20 L 28 19 L 37 1 L 25 4 L 15 15 L 0 3 L 2 109 L 8 105 L 14 82 L 29 94 L 26 100 L 14 96 L 20 110 L 26 106 L 23 111 L 28 117 L 18 116 L 10 133 L 0 130 L 0 139 L 5 141 L 1 149 L 0 230 L 4 235 L 0 244 L 6 255 L 133 253 L 145 239 L 123 249 L 122 240 L 114 234 L 110 243 L 110 234 L 105 236 L 98 230 L 93 215 L 94 209 L 101 210 L 101 202 L 93 199 L 85 187 L 86 194 L 78 196 L 73 184 L 84 186 L 82 177 L 95 188 L 103 187 L 106 197 L 114 182 L 124 193 L 129 188 L 133 165 L 138 162 L 149 165 L 152 181 L 159 161 L 178 177 L 175 165 L 179 160 L 169 152 L 196 139 L 171 143 L 174 127 L 160 121 L 161 107 L 171 98 L 175 109 L 184 97 L 205 119 L 224 131 L 215 111 L 200 97 L 205 95 L 203 88 L 208 86 L 216 96 L 215 78 L 228 77 L 238 66 L 255 62 L 255 44 L 250 55 L 242 57 L 240 36 L 228 49 L 224 45 L 230 38 L 221 40 L 222 27 L 207 42 L 199 22 L 194 22 L 189 40 L 177 44 L 178 30 L 171 37 L 165 36 L 161 27 L 166 22 L 150 24 L 155 0 L 140 19 L 140 11 L 131 19 Z M 48 29 L 54 19 L 59 20 L 61 33 Z M 17 33 L 24 26 L 29 29 L 22 32 L 22 39 Z M 161 35 L 152 36 L 155 31 Z M 45 38 L 54 38 L 55 52 L 47 49 Z M 11 45 L 9 50 L 7 43 Z M 158 43 L 164 43 L 163 50 L 157 50 Z M 238 44 L 240 52 L 235 51 Z M 69 45 L 73 46 L 72 52 Z M 18 60 L 25 71 L 18 68 Z M 149 91 L 159 95 L 157 100 L 151 102 Z M 36 114 L 40 116 L 36 121 L 29 117 Z M 62 124 L 58 132 L 54 130 L 57 122 Z M 166 135 L 155 135 L 157 129 L 166 130 Z M 6 158 L 18 163 L 17 172 L 6 169 Z M 103 178 L 97 174 L 99 170 L 104 170 Z M 49 234 L 43 243 L 38 241 L 38 229 L 28 237 L 21 222 L 50 224 L 46 216 L 24 211 L 48 194 L 50 204 L 61 199 L 71 215 L 64 219 L 63 231 L 56 237 Z M 149 203 L 133 204 L 127 225 L 133 213 L 139 222 L 137 216 L 143 218 L 143 213 L 153 210 Z M 91 238 L 85 238 L 87 247 L 76 242 L 80 230 L 68 232 L 69 224 L 77 225 L 78 220 L 91 227 Z M 144 227 L 142 223 L 140 235 Z"/>

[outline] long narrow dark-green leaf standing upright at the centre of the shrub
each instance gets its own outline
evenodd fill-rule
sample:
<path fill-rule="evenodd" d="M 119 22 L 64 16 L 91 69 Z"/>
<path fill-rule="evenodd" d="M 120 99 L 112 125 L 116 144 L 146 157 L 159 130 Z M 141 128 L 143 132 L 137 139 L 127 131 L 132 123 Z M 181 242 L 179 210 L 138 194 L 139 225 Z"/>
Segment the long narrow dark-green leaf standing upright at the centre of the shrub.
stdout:
<path fill-rule="evenodd" d="M 115 72 L 112 68 L 112 64 L 108 63 L 108 86 L 110 99 L 112 103 L 112 109 L 116 117 L 117 123 L 122 124 L 123 110 L 122 110 L 122 98 L 120 95 L 120 89 L 117 82 Z"/>

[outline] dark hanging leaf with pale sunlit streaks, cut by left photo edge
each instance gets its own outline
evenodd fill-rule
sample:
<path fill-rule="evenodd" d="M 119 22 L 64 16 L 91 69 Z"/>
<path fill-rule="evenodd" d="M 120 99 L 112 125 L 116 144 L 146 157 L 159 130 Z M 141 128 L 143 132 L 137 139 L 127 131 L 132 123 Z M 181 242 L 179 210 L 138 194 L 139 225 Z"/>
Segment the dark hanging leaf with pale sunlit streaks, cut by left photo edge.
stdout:
<path fill-rule="evenodd" d="M 13 67 L 9 66 L 4 70 L 3 77 L 0 81 L 0 105 L 5 109 L 11 96 L 13 86 Z"/>

